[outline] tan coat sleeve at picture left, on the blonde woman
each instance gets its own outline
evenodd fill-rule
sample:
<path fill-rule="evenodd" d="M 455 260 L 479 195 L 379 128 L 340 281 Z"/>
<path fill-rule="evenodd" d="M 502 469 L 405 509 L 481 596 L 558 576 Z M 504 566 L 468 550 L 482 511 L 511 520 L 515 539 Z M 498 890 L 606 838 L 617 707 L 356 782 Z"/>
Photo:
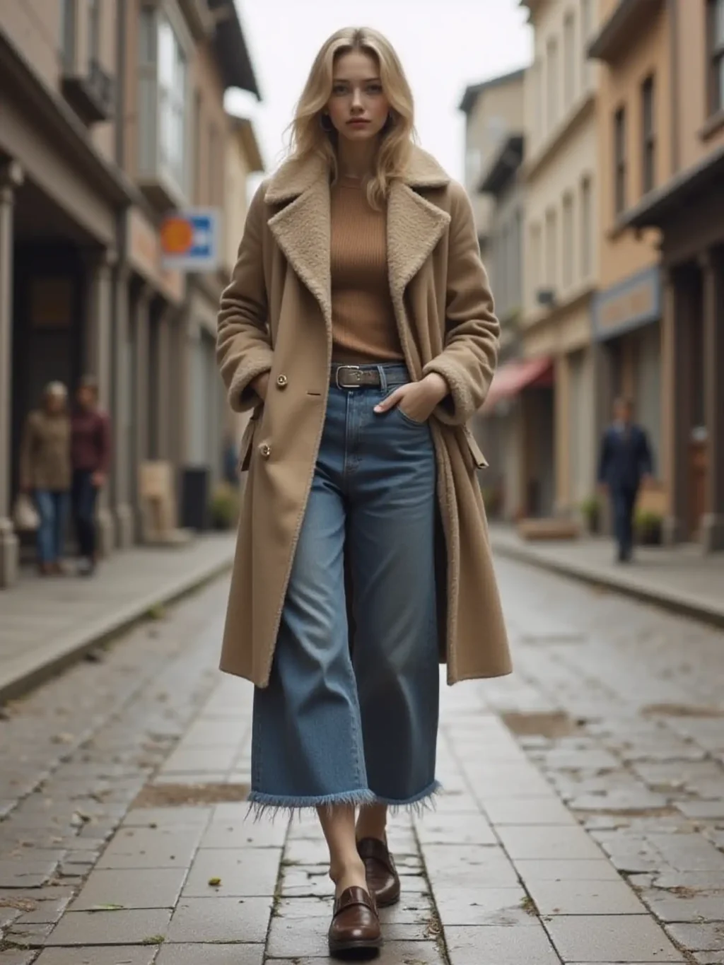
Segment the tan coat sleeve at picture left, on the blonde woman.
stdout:
<path fill-rule="evenodd" d="M 221 294 L 216 322 L 216 360 L 236 412 L 259 402 L 252 381 L 271 369 L 272 351 L 267 324 L 263 234 L 265 186 L 249 206 L 237 263 L 229 286 Z"/>

